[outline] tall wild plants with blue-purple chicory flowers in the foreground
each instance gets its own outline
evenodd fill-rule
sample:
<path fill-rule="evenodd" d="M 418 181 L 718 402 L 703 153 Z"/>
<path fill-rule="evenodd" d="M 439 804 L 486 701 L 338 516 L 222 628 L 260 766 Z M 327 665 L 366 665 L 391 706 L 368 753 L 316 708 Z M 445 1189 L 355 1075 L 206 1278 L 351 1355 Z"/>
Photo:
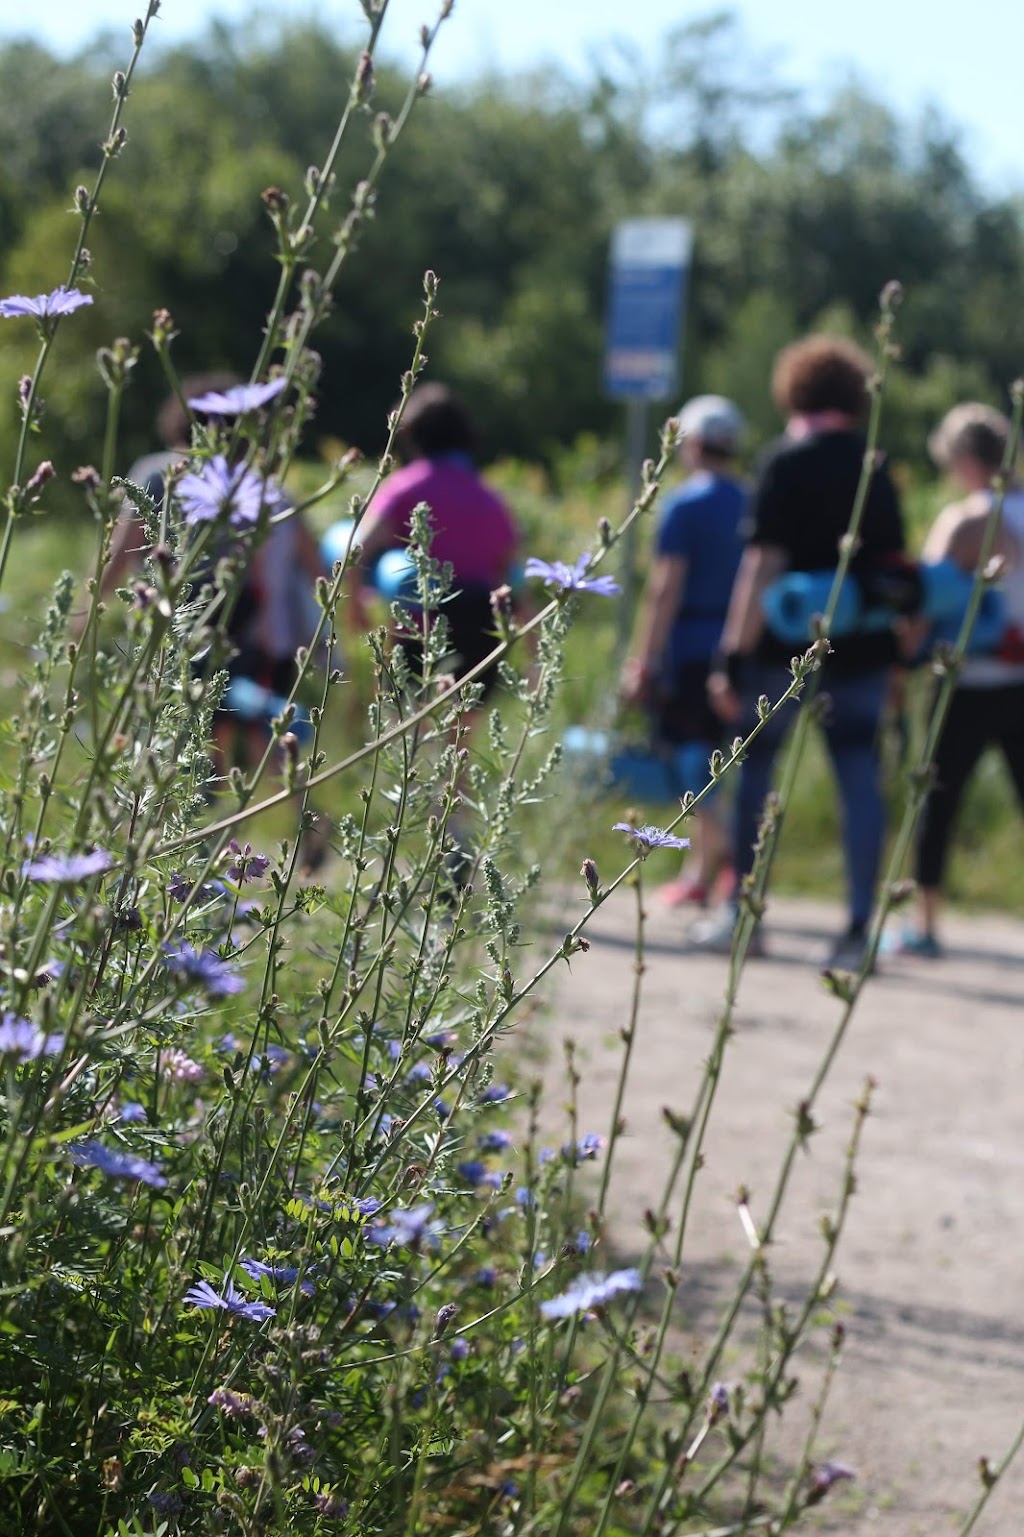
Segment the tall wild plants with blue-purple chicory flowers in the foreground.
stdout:
<path fill-rule="evenodd" d="M 115 75 L 97 188 L 131 148 L 121 114 L 155 14 L 151 0 L 132 65 Z M 426 91 L 435 32 L 424 28 L 407 109 Z M 352 103 L 366 108 L 374 89 L 366 52 Z M 633 1480 L 650 1497 L 643 1529 L 681 1529 L 713 1509 L 683 1477 L 687 1448 L 709 1436 L 721 1476 L 741 1479 L 753 1508 L 738 1459 L 760 1448 L 803 1337 L 766 1310 L 770 1366 L 749 1373 L 753 1408 L 741 1391 L 721 1400 L 718 1346 L 692 1377 L 663 1366 L 680 1165 L 649 1248 L 615 1263 L 606 1196 L 621 1117 L 581 1130 L 574 1104 L 541 1147 L 510 1039 L 570 953 L 530 902 L 529 828 L 558 762 L 544 736 L 577 609 L 563 599 L 618 593 L 595 558 L 527 563 L 552 593 L 523 622 L 532 678 L 503 658 L 506 692 L 480 727 L 481 682 L 450 687 L 446 672 L 450 572 L 415 516 L 423 676 L 404 644 L 372 629 L 369 730 L 363 719 L 352 730 L 340 569 L 317 586 L 315 633 L 288 698 L 260 716 L 260 753 L 226 762 L 241 713 L 235 603 L 274 526 L 294 516 L 283 481 L 314 413 L 311 338 L 404 115 L 372 118 L 366 175 L 340 214 L 343 135 L 311 168 L 304 207 L 264 192 L 283 277 L 252 380 L 188 401 L 185 461 L 165 469 L 158 493 L 118 473 L 120 397 L 138 347 L 118 338 L 100 358 L 103 469 L 83 464 L 74 480 L 98 530 L 85 610 L 74 612 L 83 584 L 60 578 L 0 744 L 3 1532 L 603 1537 L 620 1529 L 615 1502 Z M 97 194 L 80 189 L 86 227 L 95 211 Z M 314 238 L 329 218 L 332 238 Z M 26 444 L 58 323 L 94 303 L 75 286 L 86 266 L 80 244 L 65 286 L 0 301 L 0 318 L 37 323 L 40 347 L 3 481 L 9 529 L 46 498 L 51 461 L 29 475 Z M 437 286 L 427 274 L 403 404 Z M 149 340 L 180 387 L 175 335 L 158 310 Z M 357 513 L 374 484 L 360 484 Z M 114 583 L 105 609 L 132 513 L 141 573 L 131 589 Z M 12 549 L 0 543 L 0 581 Z M 506 619 L 514 656 L 521 632 Z M 618 827 L 641 855 L 686 845 Z M 592 859 L 584 881 L 597 908 Z M 643 1416 L 663 1389 L 672 1426 L 658 1443 L 678 1443 L 686 1465 L 649 1456 L 637 1419 L 601 1449 L 595 1494 L 584 1471 L 598 1468 L 601 1414 Z M 846 1476 L 838 1468 L 804 1469 L 801 1509 Z"/>

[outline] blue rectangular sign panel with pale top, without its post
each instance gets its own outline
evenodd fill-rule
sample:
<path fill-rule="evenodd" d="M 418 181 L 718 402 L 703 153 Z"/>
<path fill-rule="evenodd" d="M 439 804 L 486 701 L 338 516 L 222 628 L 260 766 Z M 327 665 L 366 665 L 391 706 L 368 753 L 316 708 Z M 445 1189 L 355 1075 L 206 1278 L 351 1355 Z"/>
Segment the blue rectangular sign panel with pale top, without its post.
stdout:
<path fill-rule="evenodd" d="M 604 390 L 667 400 L 678 389 L 693 232 L 684 218 L 630 218 L 612 237 Z"/>

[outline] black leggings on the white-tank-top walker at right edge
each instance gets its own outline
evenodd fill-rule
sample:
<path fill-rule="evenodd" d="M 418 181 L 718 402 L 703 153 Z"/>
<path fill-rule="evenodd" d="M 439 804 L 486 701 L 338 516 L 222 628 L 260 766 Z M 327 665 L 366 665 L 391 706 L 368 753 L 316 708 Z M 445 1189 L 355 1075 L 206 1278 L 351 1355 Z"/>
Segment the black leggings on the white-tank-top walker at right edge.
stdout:
<path fill-rule="evenodd" d="M 1001 747 L 1024 810 L 1024 682 L 956 689 L 935 750 L 935 781 L 918 833 L 918 885 L 943 885 L 961 796 L 986 747 Z"/>

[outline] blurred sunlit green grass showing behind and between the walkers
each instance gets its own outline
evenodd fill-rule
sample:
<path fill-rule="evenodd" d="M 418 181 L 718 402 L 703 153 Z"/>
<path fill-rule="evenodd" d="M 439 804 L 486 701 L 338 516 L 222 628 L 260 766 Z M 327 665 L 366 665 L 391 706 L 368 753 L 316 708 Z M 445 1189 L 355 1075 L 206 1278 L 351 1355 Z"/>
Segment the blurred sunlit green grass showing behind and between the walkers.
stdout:
<path fill-rule="evenodd" d="M 586 466 L 584 466 L 586 469 Z M 301 467 L 297 487 L 304 489 L 320 476 L 317 467 Z M 601 516 L 618 518 L 626 509 L 626 492 L 620 481 L 603 475 L 581 475 L 578 489 L 557 496 L 532 466 L 506 463 L 490 475 L 504 492 L 520 518 L 526 547 L 546 558 L 593 549 Z M 904 487 L 907 523 L 912 543 L 919 547 L 938 506 L 941 489 Z M 323 530 L 347 512 L 347 493 L 314 509 L 312 523 Z M 641 533 L 641 549 L 647 538 Z M 8 607 L 0 613 L 0 705 L 6 719 L 17 709 L 25 664 L 31 655 L 35 630 L 46 596 L 58 572 L 85 573 L 94 550 L 91 523 L 71 524 L 65 520 L 40 518 L 26 524 L 14 544 Z M 558 715 L 563 725 L 570 722 L 617 721 L 617 681 L 620 670 L 618 615 L 613 604 L 583 599 L 580 622 L 574 626 L 566 650 L 566 673 Z M 357 682 L 354 687 L 358 690 Z M 919 729 L 927 698 L 927 679 L 916 676 L 910 687 L 910 729 Z M 346 712 L 344 721 L 327 722 L 327 750 L 332 756 L 361 742 L 361 709 L 358 701 Z M 632 730 L 643 727 L 633 719 Z M 358 739 L 357 739 L 358 738 Z M 901 802 L 899 764 L 895 741 L 887 744 L 889 792 L 893 808 Z M 351 808 L 354 785 L 340 781 L 324 796 L 323 808 L 340 815 Z M 546 851 L 546 873 L 575 882 L 581 853 L 604 862 L 609 868 L 621 856 L 621 838 L 610 832 L 626 810 L 618 795 L 603 795 L 590 782 L 563 778 L 555 802 L 538 807 L 538 847 Z M 566 799 L 574 815 L 564 815 Z M 670 804 L 640 804 L 644 821 L 664 821 L 675 810 Z M 775 890 L 790 895 L 841 898 L 843 856 L 838 838 L 836 798 L 830 770 L 818 741 L 806 756 L 800 793 L 789 815 L 783 838 Z M 288 832 L 277 822 L 268 832 Z M 972 910 L 995 908 L 1024 913 L 1024 891 L 1016 875 L 1024 864 L 1024 819 L 1019 816 L 1006 768 L 995 753 L 989 753 L 975 775 L 966 796 L 953 845 L 949 895 L 953 904 Z M 669 861 L 666 861 L 666 878 Z"/>

